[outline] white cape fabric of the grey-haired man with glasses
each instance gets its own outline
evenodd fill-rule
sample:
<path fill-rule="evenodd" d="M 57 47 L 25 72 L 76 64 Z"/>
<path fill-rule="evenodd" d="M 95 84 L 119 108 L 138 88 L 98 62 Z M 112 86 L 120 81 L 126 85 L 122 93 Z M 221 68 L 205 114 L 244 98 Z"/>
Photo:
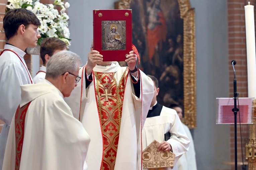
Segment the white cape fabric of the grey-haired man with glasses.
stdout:
<path fill-rule="evenodd" d="M 62 93 L 46 79 L 21 86 L 25 117 L 19 170 L 83 170 L 90 138 L 73 117 Z M 15 118 L 15 116 L 13 117 Z M 4 170 L 15 169 L 15 119 L 4 157 Z"/>

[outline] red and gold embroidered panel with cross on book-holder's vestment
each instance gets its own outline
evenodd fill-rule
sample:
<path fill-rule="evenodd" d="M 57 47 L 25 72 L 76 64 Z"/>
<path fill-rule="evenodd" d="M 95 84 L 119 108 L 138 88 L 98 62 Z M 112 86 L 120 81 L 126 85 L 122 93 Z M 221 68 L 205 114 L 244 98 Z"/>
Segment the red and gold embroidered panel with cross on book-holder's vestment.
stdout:
<path fill-rule="evenodd" d="M 94 73 L 97 79 L 96 96 L 103 138 L 101 169 L 112 170 L 115 166 L 128 69 L 123 73 L 118 87 L 114 72 Z"/>

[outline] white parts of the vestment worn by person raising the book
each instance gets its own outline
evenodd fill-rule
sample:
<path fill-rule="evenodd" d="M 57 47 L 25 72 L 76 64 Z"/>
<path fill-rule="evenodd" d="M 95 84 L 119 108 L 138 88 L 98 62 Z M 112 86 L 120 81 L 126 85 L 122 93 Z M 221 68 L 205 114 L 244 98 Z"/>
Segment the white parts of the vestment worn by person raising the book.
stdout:
<path fill-rule="evenodd" d="M 76 87 L 77 89 L 75 88 L 71 97 L 65 100 L 75 117 L 78 118 L 80 113 L 82 124 L 91 138 L 86 157 L 88 170 L 100 170 L 103 156 L 103 139 L 95 96 L 95 86 L 97 84 L 93 81 L 85 89 L 85 67 L 80 69 L 79 74 L 82 80 Z M 112 62 L 111 66 L 96 65 L 93 68 L 93 71 L 97 72 L 115 72 L 114 77 L 117 86 L 125 70 L 126 67 L 120 67 L 116 61 Z M 130 73 L 128 73 L 126 79 L 115 170 L 142 169 L 141 131 L 154 95 L 154 88 L 153 81 L 142 71 L 140 71 L 140 78 L 140 98 L 135 96 Z M 93 77 L 93 80 L 95 80 L 95 77 Z"/>

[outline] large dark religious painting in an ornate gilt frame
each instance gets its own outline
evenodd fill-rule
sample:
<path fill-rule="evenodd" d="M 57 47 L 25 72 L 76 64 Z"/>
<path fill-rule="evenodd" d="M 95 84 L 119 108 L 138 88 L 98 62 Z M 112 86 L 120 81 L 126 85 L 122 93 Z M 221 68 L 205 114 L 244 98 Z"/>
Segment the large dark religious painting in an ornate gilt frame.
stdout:
<path fill-rule="evenodd" d="M 189 0 L 120 0 L 116 9 L 132 9 L 132 43 L 138 66 L 159 81 L 157 101 L 184 108 L 184 123 L 196 127 L 195 27 Z"/>

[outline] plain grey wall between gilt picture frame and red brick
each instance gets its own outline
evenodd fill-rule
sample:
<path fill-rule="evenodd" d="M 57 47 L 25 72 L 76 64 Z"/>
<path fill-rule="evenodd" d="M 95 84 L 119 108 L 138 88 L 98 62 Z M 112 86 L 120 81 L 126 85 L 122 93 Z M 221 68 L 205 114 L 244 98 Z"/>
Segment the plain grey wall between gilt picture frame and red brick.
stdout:
<path fill-rule="evenodd" d="M 216 125 L 216 98 L 229 97 L 227 1 L 190 0 L 195 8 L 198 170 L 228 169 L 229 125 Z"/>

